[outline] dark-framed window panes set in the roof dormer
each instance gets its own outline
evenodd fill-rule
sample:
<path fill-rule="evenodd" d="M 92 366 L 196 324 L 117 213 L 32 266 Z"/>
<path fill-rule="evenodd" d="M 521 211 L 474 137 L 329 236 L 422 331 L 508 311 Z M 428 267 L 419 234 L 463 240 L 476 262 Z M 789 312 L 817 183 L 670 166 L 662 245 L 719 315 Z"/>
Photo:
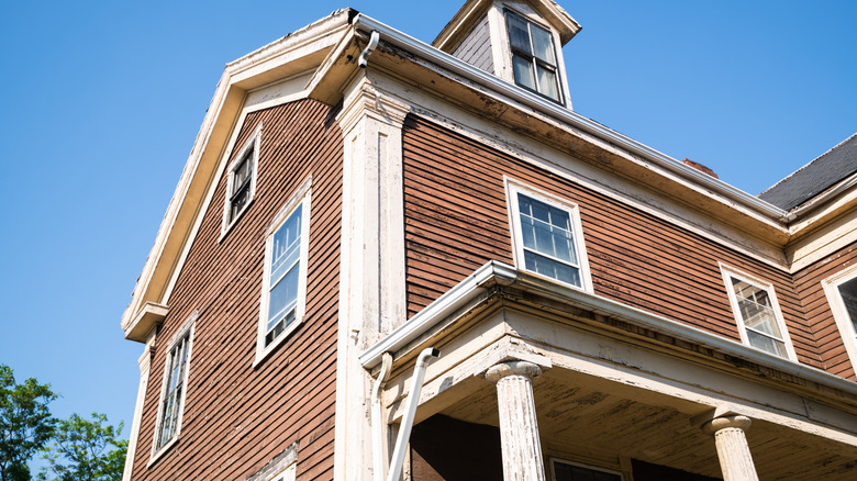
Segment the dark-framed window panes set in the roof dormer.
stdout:
<path fill-rule="evenodd" d="M 550 31 L 505 11 L 515 83 L 561 103 L 556 51 Z"/>

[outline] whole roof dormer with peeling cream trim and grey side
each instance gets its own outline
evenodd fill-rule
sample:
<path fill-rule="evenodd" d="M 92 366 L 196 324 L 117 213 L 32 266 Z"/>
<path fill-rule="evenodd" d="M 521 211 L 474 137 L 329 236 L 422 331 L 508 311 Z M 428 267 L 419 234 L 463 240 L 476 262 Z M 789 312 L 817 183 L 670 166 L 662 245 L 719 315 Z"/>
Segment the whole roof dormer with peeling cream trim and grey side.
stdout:
<path fill-rule="evenodd" d="M 563 46 L 579 31 L 552 0 L 468 0 L 432 45 L 570 110 Z"/>

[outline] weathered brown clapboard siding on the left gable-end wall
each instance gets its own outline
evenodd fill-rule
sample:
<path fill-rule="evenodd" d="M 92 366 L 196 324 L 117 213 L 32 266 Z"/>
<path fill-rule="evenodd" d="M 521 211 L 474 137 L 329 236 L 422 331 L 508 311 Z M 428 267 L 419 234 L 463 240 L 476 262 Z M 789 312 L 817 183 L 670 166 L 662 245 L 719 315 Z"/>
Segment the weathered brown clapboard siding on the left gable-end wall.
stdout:
<path fill-rule="evenodd" d="M 256 193 L 221 237 L 226 176 L 169 300 L 158 335 L 134 459 L 134 480 L 244 479 L 292 443 L 299 479 L 333 479 L 342 133 L 330 108 L 303 100 L 253 112 L 234 155 L 263 123 Z M 307 310 L 302 324 L 256 368 L 265 233 L 312 176 Z M 199 311 L 179 440 L 147 467 L 168 340 Z"/>

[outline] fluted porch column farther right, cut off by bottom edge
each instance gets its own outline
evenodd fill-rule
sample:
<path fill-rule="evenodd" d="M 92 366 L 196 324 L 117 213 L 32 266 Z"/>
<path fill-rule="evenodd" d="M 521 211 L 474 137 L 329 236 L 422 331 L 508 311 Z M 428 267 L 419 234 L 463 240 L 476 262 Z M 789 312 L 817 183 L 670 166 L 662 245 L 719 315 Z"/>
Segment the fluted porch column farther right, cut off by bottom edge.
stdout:
<path fill-rule="evenodd" d="M 759 479 L 750 456 L 747 436 L 744 434 L 749 426 L 749 417 L 737 414 L 715 417 L 702 425 L 702 430 L 714 435 L 723 481 L 758 481 Z"/>

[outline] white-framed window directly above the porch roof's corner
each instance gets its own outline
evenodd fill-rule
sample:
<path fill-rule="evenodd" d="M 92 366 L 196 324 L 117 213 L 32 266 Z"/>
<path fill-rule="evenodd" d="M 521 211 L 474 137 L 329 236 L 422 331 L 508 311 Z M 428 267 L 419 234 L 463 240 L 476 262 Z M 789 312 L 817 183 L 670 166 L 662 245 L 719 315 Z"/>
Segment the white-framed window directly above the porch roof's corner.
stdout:
<path fill-rule="evenodd" d="M 577 205 L 509 184 L 515 264 L 590 290 Z"/>

